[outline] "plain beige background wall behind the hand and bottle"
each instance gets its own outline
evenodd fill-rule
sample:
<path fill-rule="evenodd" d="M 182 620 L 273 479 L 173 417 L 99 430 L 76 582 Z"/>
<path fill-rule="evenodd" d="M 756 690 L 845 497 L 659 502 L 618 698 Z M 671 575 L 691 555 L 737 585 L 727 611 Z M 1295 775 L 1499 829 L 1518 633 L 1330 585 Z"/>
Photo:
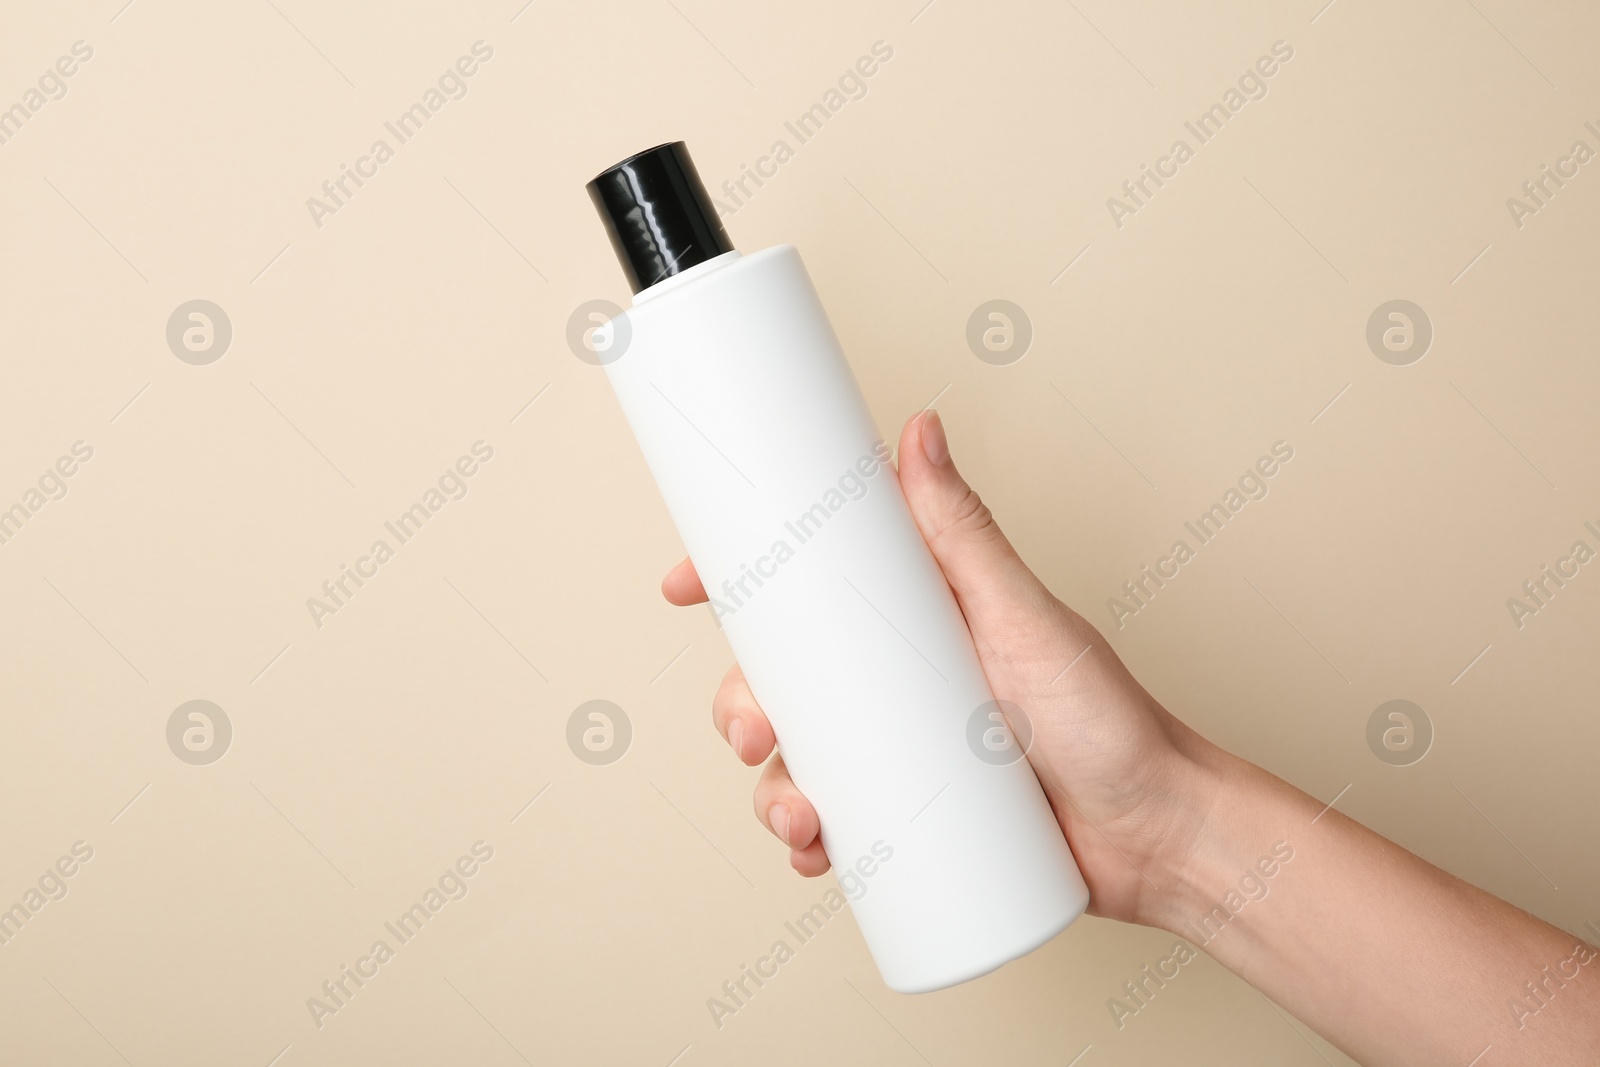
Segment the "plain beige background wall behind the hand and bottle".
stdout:
<path fill-rule="evenodd" d="M 94 456 L 0 545 L 0 904 L 74 841 L 94 857 L 0 945 L 0 1062 L 1346 1062 L 1210 960 L 1117 1030 L 1106 1000 L 1173 939 L 1093 918 L 920 998 L 842 920 L 710 1021 L 829 883 L 750 817 L 707 713 L 730 653 L 656 593 L 682 549 L 563 339 L 578 304 L 626 302 L 582 184 L 678 138 L 720 184 L 877 40 L 869 93 L 726 224 L 802 248 L 880 427 L 938 397 L 1102 627 L 1290 442 L 1112 643 L 1218 742 L 1349 787 L 1341 809 L 1550 921 L 1600 920 L 1600 568 L 1522 630 L 1506 608 L 1600 545 L 1600 174 L 1520 230 L 1506 208 L 1600 147 L 1600 16 L 922 3 L 6 13 L 0 106 L 74 42 L 94 56 L 0 146 L 0 506 L 74 442 Z M 469 94 L 318 229 L 307 197 L 477 40 Z M 1270 94 L 1117 229 L 1107 197 L 1277 40 Z M 195 298 L 234 326 L 208 366 L 163 336 Z M 1010 366 L 963 339 L 994 298 L 1035 330 Z M 1365 342 L 1394 298 L 1435 328 L 1411 366 Z M 307 597 L 477 440 L 466 499 L 317 629 Z M 600 697 L 634 739 L 589 766 L 565 729 Z M 1414 766 L 1366 747 L 1392 697 L 1437 731 Z M 166 745 L 189 699 L 234 726 L 208 766 Z M 477 840 L 469 896 L 318 1029 L 306 1000 Z"/>

